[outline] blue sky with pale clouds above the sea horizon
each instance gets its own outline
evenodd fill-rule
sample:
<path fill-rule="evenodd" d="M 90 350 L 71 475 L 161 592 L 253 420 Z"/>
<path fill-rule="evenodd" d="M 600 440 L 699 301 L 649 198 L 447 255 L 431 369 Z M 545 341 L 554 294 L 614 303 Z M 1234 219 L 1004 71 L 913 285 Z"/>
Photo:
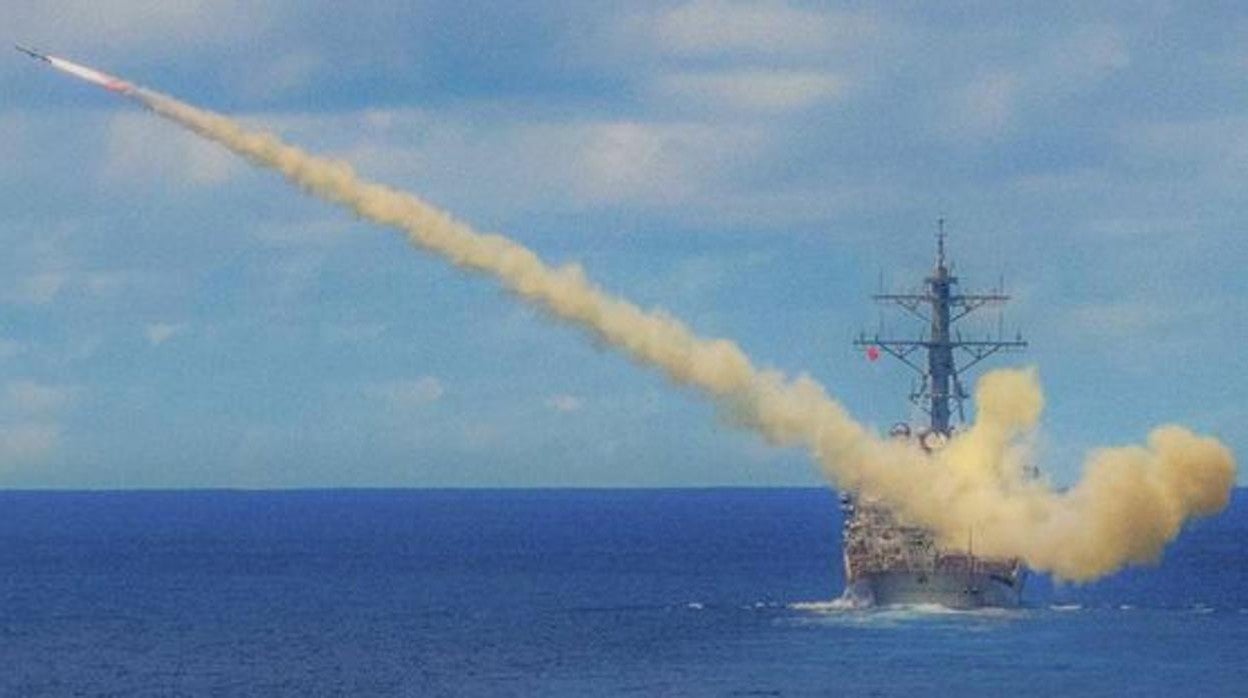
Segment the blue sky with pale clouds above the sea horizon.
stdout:
<path fill-rule="evenodd" d="M 358 7 L 356 5 L 359 5 Z M 1041 469 L 1248 447 L 1236 2 L 16 0 L 0 34 L 413 191 L 879 428 L 852 340 L 1013 300 Z M 0 487 L 817 486 L 714 405 L 131 102 L 0 60 Z M 972 373 L 972 377 L 977 373 Z"/>

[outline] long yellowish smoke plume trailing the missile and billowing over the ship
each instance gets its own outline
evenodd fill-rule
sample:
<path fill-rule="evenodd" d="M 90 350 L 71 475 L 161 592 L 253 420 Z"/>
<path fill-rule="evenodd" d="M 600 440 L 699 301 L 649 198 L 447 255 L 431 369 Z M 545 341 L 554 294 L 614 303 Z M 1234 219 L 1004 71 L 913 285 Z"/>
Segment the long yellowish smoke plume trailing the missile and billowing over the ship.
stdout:
<path fill-rule="evenodd" d="M 1179 426 L 1143 446 L 1102 448 L 1065 492 L 1025 476 L 1028 436 L 1043 406 L 1033 370 L 983 376 L 975 425 L 935 455 L 855 422 L 807 376 L 756 367 L 733 342 L 703 338 L 663 311 L 644 311 L 593 285 L 578 265 L 552 267 L 500 235 L 480 233 L 419 197 L 359 179 L 344 164 L 276 136 L 64 59 L 54 67 L 141 102 L 157 115 L 276 170 L 322 200 L 402 231 L 412 245 L 494 278 L 550 316 L 714 398 L 725 415 L 780 446 L 802 446 L 839 487 L 880 497 L 945 543 L 1023 558 L 1035 569 L 1091 581 L 1159 558 L 1184 522 L 1222 509 L 1236 463 L 1219 441 Z"/>

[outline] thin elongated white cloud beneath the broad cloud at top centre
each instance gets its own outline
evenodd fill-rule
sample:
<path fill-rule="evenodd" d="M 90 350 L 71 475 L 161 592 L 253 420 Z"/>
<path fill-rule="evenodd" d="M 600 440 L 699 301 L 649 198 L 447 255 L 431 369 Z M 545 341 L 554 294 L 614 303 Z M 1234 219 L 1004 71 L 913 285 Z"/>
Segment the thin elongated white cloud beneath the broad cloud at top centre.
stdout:
<path fill-rule="evenodd" d="M 810 70 L 680 72 L 659 80 L 659 91 L 668 96 L 755 111 L 809 107 L 840 96 L 845 87 L 844 79 Z"/>

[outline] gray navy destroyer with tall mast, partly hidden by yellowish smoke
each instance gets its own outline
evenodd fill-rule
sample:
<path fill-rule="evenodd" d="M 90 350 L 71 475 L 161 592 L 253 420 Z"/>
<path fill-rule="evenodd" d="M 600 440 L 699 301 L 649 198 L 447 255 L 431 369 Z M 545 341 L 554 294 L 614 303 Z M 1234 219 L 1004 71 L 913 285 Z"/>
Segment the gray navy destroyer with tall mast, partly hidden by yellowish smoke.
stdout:
<path fill-rule="evenodd" d="M 926 425 L 899 422 L 890 436 L 912 440 L 935 451 L 952 436 L 955 411 L 965 421 L 970 396 L 963 373 L 1000 351 L 1022 350 L 1022 336 L 966 340 L 955 323 L 986 306 L 1010 300 L 1001 288 L 962 293 L 945 258 L 945 222 L 937 222 L 936 266 L 920 292 L 877 293 L 876 302 L 897 306 L 924 322 L 917 338 L 861 335 L 855 345 L 872 361 L 887 353 L 912 368 L 919 380 L 910 400 L 927 413 Z M 937 467 L 937 466 L 934 466 Z M 1017 558 L 977 557 L 975 532 L 965 547 L 941 544 L 936 536 L 904 521 L 884 502 L 842 494 L 845 513 L 845 594 L 855 606 L 938 604 L 948 608 L 1016 607 L 1022 599 L 1027 569 Z"/>

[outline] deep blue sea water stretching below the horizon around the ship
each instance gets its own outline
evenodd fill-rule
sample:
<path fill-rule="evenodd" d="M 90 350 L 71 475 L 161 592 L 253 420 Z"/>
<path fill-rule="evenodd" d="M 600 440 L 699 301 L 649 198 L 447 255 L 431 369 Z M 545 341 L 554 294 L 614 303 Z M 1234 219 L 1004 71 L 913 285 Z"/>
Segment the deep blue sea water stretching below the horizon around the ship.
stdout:
<path fill-rule="evenodd" d="M 1244 696 L 1248 492 L 1027 607 L 849 611 L 819 489 L 0 493 L 5 696 Z"/>

